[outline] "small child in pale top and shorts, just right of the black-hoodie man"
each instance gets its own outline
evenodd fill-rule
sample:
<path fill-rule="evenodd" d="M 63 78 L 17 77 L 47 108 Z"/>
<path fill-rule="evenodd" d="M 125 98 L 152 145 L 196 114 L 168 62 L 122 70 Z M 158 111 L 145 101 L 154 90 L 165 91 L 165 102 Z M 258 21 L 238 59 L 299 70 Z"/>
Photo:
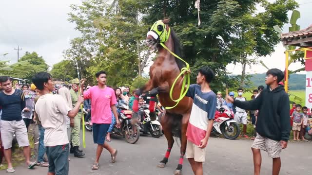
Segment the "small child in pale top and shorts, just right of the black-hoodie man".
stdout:
<path fill-rule="evenodd" d="M 303 123 L 303 115 L 301 113 L 301 105 L 296 105 L 296 110 L 292 113 L 292 131 L 293 140 L 299 140 L 299 133 L 301 130 L 301 125 Z"/>

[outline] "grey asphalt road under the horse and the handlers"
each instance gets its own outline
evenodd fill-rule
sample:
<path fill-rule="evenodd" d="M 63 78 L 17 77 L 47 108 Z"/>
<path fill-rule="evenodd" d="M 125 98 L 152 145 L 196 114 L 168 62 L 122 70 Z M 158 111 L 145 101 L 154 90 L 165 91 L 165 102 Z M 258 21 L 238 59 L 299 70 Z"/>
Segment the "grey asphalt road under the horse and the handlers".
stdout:
<path fill-rule="evenodd" d="M 252 140 L 225 140 L 210 138 L 204 163 L 204 175 L 252 175 L 254 172 L 250 146 Z M 70 155 L 70 175 L 173 175 L 179 159 L 179 146 L 175 143 L 169 162 L 164 169 L 157 168 L 167 149 L 164 137 L 159 139 L 141 136 L 136 144 L 129 144 L 122 138 L 112 138 L 110 144 L 118 150 L 117 161 L 111 164 L 110 154 L 105 150 L 100 158 L 100 169 L 92 171 L 96 145 L 91 132 L 86 132 L 85 158 Z M 280 175 L 312 175 L 312 142 L 290 142 L 282 151 Z M 46 175 L 47 168 L 26 169 L 25 165 L 15 167 L 16 175 Z M 272 159 L 262 152 L 261 175 L 270 175 Z M 183 175 L 192 175 L 192 169 L 184 159 Z M 0 175 L 6 174 L 4 171 Z"/>

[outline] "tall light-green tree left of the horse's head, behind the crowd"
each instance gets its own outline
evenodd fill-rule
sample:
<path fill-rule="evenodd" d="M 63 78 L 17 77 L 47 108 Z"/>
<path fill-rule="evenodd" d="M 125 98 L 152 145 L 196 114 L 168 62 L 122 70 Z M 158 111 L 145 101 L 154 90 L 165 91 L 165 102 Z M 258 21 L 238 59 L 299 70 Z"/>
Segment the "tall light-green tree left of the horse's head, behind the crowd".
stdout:
<path fill-rule="evenodd" d="M 135 0 L 83 1 L 82 5 L 71 5 L 69 21 L 76 24 L 82 33 L 80 40 L 91 54 L 90 67 L 86 70 L 94 74 L 107 68 L 122 58 L 137 53 L 143 48 L 144 26 L 138 16 L 139 4 Z M 73 49 L 73 47 L 71 48 Z M 108 83 L 114 86 L 131 84 L 132 79 L 141 75 L 149 53 L 138 53 L 129 59 L 107 68 Z"/>

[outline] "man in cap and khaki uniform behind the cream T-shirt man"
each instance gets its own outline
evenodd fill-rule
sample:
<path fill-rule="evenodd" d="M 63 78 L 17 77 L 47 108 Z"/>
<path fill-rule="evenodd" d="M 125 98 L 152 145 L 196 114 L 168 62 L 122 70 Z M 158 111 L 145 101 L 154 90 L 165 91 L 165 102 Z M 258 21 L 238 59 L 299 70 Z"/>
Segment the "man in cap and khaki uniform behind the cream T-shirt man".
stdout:
<path fill-rule="evenodd" d="M 72 98 L 72 105 L 73 108 L 75 107 L 76 103 L 78 102 L 78 88 L 79 88 L 79 79 L 75 78 L 72 80 L 72 88 L 70 89 L 70 96 Z M 82 153 L 81 150 L 79 150 L 80 145 L 80 123 L 81 123 L 81 109 L 79 109 L 79 112 L 77 116 L 75 116 L 74 119 L 70 119 L 70 126 L 72 128 L 71 130 L 71 148 L 70 153 L 73 154 L 75 157 L 83 157 L 85 154 Z"/>

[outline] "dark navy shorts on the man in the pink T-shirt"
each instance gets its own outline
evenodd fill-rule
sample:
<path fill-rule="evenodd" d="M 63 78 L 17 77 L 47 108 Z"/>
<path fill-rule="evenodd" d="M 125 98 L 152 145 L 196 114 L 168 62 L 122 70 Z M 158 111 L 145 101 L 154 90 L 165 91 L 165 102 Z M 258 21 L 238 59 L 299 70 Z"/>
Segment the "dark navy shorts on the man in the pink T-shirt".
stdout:
<path fill-rule="evenodd" d="M 104 144 L 106 133 L 111 124 L 92 124 L 93 141 L 96 144 Z"/>

